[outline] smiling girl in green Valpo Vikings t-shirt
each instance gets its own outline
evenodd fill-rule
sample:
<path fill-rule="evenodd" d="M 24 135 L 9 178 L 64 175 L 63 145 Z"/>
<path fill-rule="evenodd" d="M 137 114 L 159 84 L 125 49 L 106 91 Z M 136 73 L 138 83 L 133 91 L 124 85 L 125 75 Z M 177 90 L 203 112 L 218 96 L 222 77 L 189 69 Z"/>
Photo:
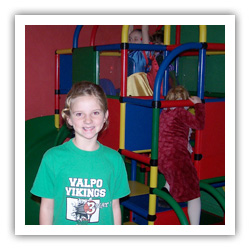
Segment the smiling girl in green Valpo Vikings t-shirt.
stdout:
<path fill-rule="evenodd" d="M 40 224 L 120 225 L 119 198 L 130 190 L 120 154 L 97 140 L 108 124 L 101 87 L 74 84 L 62 116 L 75 137 L 48 150 L 42 159 L 31 189 L 42 197 Z"/>

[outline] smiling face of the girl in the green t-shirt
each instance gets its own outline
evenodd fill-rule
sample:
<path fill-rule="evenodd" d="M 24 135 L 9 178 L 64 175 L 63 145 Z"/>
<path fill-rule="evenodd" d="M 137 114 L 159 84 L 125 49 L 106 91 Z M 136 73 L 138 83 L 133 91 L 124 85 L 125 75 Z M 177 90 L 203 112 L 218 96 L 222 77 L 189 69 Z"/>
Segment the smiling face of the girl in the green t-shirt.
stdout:
<path fill-rule="evenodd" d="M 108 111 L 104 114 L 97 97 L 80 96 L 71 103 L 68 123 L 74 128 L 76 139 L 96 141 L 107 118 Z"/>

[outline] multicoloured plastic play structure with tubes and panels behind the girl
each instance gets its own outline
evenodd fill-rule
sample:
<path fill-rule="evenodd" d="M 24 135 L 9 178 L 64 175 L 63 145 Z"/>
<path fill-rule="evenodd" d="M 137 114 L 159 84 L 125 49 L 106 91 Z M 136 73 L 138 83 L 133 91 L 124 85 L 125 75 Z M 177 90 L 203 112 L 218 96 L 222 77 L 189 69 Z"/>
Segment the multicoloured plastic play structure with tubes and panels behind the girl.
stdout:
<path fill-rule="evenodd" d="M 181 44 L 181 26 L 176 26 L 175 44 L 170 44 L 171 27 L 165 25 L 158 27 L 164 29 L 164 45 L 130 44 L 129 26 L 124 25 L 120 44 L 95 46 L 98 26 L 93 26 L 90 46 L 78 47 L 82 28 L 82 25 L 76 27 L 73 48 L 57 50 L 55 53 L 55 129 L 51 132 L 55 138 L 54 145 L 59 145 L 71 137 L 70 131 L 60 123 L 60 95 L 67 94 L 72 84 L 82 80 L 101 85 L 108 96 L 110 127 L 101 135 L 99 141 L 119 150 L 124 156 L 129 176 L 131 194 L 121 202 L 124 224 L 189 224 L 186 203 L 177 203 L 170 195 L 160 190 L 162 176 L 158 173 L 157 164 L 161 110 L 166 107 L 192 106 L 191 101 L 164 100 L 169 88 L 169 65 L 174 62 L 175 74 L 178 75 L 181 70 L 180 58 L 195 56 L 198 58 L 197 64 L 192 67 L 197 69 L 198 80 L 194 94 L 205 103 L 206 120 L 204 130 L 195 131 L 192 157 L 200 179 L 200 188 L 213 197 L 222 209 L 222 220 L 218 223 L 223 224 L 225 198 L 221 189 L 225 190 L 225 98 L 218 98 L 218 93 L 214 96 L 211 93 L 206 95 L 205 73 L 207 56 L 224 55 L 225 44 L 207 43 L 207 27 L 204 25 L 199 26 L 198 42 Z M 164 60 L 155 78 L 152 96 L 127 95 L 128 76 L 133 75 L 128 53 L 133 50 L 164 52 Z M 119 89 L 116 89 L 109 79 L 99 79 L 99 60 L 103 55 L 121 58 Z M 185 85 L 184 82 L 182 84 Z M 164 199 L 169 207 L 160 207 L 158 197 Z"/>

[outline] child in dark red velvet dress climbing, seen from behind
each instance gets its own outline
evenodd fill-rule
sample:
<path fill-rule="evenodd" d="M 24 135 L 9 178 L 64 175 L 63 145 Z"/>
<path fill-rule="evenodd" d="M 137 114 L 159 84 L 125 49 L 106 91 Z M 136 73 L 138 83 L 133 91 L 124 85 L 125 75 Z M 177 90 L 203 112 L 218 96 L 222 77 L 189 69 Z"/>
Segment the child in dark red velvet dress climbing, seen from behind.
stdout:
<path fill-rule="evenodd" d="M 188 215 L 192 225 L 200 221 L 201 202 L 199 179 L 191 160 L 189 145 L 190 128 L 203 129 L 205 107 L 197 96 L 189 97 L 187 90 L 177 86 L 169 90 L 166 100 L 191 100 L 195 115 L 186 107 L 164 109 L 159 125 L 159 170 L 164 174 L 169 191 L 177 202 L 188 204 Z"/>

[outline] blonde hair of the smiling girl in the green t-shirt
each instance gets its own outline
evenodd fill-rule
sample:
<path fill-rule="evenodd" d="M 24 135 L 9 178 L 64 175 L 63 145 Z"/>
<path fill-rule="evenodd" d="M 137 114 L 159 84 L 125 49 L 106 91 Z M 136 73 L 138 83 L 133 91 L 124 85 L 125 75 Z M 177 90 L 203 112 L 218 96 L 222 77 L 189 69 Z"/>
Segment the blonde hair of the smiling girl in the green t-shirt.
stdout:
<path fill-rule="evenodd" d="M 99 85 L 96 85 L 88 81 L 81 81 L 75 83 L 73 84 L 71 90 L 67 94 L 65 101 L 65 108 L 62 110 L 62 118 L 66 122 L 66 125 L 69 129 L 73 129 L 73 127 L 68 123 L 68 118 L 70 117 L 71 105 L 73 100 L 80 96 L 95 96 L 98 99 L 104 114 L 106 114 L 106 112 L 108 111 L 107 97 L 103 89 Z M 108 119 L 106 119 L 102 131 L 105 130 L 107 127 L 108 127 Z"/>

